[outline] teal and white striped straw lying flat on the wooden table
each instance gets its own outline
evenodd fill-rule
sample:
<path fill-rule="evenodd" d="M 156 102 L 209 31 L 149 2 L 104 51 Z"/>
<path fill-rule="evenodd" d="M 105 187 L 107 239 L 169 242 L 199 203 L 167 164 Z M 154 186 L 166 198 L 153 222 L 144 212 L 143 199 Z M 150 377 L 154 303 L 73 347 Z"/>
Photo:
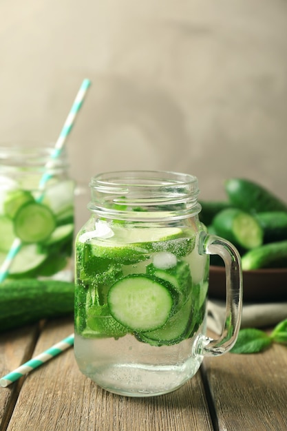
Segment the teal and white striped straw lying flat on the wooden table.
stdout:
<path fill-rule="evenodd" d="M 19 366 L 14 371 L 9 372 L 6 376 L 1 377 L 0 386 L 2 388 L 6 388 L 14 381 L 19 380 L 24 375 L 28 374 L 28 372 L 38 368 L 43 365 L 45 362 L 50 361 L 53 357 L 59 355 L 67 348 L 70 348 L 74 345 L 74 334 L 69 335 L 69 337 L 62 339 L 59 343 L 54 344 L 54 346 L 48 348 L 40 355 L 35 356 L 30 359 L 30 361 L 25 362 L 25 364 Z"/>

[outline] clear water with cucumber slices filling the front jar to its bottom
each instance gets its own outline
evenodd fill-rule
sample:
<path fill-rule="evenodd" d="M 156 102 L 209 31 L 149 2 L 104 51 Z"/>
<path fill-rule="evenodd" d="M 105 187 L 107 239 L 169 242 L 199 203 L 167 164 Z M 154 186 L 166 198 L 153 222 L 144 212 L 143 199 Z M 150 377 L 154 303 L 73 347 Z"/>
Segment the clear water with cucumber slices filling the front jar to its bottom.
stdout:
<path fill-rule="evenodd" d="M 209 275 L 197 236 L 187 228 L 125 227 L 105 220 L 89 222 L 78 233 L 74 353 L 80 370 L 100 386 L 107 388 L 108 380 L 109 390 L 122 393 L 112 382 L 123 379 L 125 386 L 129 378 L 133 393 L 143 379 L 147 395 L 149 386 L 159 388 L 164 381 L 180 385 L 172 375 L 178 382 L 186 378 L 174 358 L 178 351 L 191 354 L 191 339 L 204 327 Z M 139 355 L 142 366 L 131 372 Z M 171 358 L 162 372 L 153 365 L 160 357 Z M 193 357 L 191 364 L 187 374 L 198 369 L 200 359 Z"/>

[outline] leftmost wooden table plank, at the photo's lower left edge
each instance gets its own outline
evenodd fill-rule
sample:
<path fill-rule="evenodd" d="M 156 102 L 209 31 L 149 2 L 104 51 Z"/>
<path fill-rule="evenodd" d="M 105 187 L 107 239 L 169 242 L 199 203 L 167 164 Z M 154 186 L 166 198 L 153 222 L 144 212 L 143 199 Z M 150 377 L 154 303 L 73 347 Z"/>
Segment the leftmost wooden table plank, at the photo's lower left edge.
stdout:
<path fill-rule="evenodd" d="M 38 325 L 10 330 L 0 335 L 1 377 L 30 359 L 38 335 Z M 6 429 L 22 383 L 23 379 L 8 388 L 0 388 L 0 430 Z"/>

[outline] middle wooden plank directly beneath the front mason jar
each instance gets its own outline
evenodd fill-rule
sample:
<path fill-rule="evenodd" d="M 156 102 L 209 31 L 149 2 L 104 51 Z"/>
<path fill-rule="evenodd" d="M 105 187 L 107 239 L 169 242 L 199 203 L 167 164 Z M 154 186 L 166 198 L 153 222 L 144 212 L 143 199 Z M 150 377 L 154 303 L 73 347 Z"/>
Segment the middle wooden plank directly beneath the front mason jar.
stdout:
<path fill-rule="evenodd" d="M 34 355 L 72 331 L 70 319 L 48 324 Z M 8 426 L 12 430 L 209 431 L 213 426 L 200 372 L 168 395 L 120 397 L 83 376 L 71 348 L 25 379 Z"/>

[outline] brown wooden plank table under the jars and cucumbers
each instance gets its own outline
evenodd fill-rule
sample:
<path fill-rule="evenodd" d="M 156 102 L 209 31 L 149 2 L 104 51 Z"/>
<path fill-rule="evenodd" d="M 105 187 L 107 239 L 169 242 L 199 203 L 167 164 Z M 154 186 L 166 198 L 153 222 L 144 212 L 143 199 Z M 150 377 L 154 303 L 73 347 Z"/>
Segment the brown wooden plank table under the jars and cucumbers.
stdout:
<path fill-rule="evenodd" d="M 67 318 L 1 335 L 1 376 L 72 332 Z M 98 388 L 78 371 L 70 348 L 0 388 L 0 430 L 286 431 L 287 348 L 206 358 L 182 388 L 149 398 Z"/>

